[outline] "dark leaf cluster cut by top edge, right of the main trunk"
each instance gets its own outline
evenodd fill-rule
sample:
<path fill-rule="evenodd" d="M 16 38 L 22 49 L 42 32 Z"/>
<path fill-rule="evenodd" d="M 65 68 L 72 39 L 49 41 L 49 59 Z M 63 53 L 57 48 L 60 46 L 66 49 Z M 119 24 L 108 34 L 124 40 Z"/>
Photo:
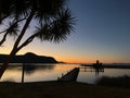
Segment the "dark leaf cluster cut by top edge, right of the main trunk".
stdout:
<path fill-rule="evenodd" d="M 64 8 L 66 0 L 37 0 L 36 20 L 48 22 Z"/>

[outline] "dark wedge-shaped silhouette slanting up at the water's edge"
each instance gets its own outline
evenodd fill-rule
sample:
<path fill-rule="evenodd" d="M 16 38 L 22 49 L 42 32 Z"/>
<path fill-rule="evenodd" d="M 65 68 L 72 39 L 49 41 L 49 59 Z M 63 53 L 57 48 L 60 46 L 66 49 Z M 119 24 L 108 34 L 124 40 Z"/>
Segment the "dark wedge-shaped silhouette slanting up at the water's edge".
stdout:
<path fill-rule="evenodd" d="M 79 73 L 79 68 L 75 68 L 68 73 L 66 73 L 65 75 L 63 75 L 61 78 L 58 78 L 58 81 L 62 81 L 62 82 L 76 81 L 78 77 L 78 73 Z"/>

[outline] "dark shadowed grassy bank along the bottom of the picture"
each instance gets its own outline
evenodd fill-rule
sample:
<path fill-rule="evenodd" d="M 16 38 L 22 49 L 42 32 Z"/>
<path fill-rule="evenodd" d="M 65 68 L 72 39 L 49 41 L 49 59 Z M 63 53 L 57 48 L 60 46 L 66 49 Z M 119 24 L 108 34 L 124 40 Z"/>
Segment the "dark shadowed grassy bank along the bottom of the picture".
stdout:
<path fill-rule="evenodd" d="M 0 83 L 0 98 L 130 98 L 130 89 L 83 83 Z"/>

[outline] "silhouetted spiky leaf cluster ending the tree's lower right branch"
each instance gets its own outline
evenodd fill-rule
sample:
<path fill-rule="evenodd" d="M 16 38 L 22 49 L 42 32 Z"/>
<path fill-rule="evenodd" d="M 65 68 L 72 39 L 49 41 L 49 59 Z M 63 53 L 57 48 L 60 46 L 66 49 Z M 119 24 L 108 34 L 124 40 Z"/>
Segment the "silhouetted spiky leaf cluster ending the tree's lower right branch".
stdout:
<path fill-rule="evenodd" d="M 74 29 L 75 19 L 72 17 L 69 10 L 58 12 L 55 20 L 50 23 L 41 24 L 37 27 L 39 38 L 53 42 L 64 41 Z"/>

